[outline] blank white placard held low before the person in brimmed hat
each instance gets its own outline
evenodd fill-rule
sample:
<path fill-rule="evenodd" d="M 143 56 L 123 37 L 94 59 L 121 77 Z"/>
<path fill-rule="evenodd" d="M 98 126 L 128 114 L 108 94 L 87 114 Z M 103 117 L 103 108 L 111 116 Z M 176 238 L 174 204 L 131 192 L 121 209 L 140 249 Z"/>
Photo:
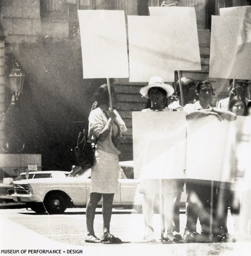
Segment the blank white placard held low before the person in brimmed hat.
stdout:
<path fill-rule="evenodd" d="M 132 112 L 134 179 L 184 179 L 186 117 L 182 112 Z"/>

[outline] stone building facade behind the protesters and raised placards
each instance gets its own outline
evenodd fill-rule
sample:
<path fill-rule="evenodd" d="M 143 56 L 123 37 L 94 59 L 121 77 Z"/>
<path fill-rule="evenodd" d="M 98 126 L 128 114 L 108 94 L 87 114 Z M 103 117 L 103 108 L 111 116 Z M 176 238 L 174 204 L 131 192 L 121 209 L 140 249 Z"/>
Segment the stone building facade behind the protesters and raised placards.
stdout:
<path fill-rule="evenodd" d="M 175 1 L 168 0 L 165 2 L 166 4 L 171 5 Z M 208 79 L 211 15 L 218 15 L 219 8 L 249 5 L 250 1 L 179 0 L 176 2 L 179 6 L 195 7 L 202 67 L 199 72 L 184 71 L 181 72 L 181 75 L 191 77 L 195 80 Z M 72 113 L 75 109 L 78 109 L 80 110 L 79 112 L 83 112 L 86 117 L 90 103 L 87 104 L 88 108 L 83 108 L 83 104 L 79 104 L 80 99 L 78 96 L 72 94 L 72 90 L 69 89 L 74 85 L 77 88 L 80 88 L 83 83 L 83 81 L 81 81 L 81 57 L 79 57 L 81 52 L 77 10 L 124 10 L 126 15 L 149 15 L 149 6 L 161 6 L 162 4 L 163 1 L 159 0 L 2 0 L 0 2 L 0 119 L 3 120 L 4 114 L 10 103 L 11 92 L 6 88 L 5 83 L 8 82 L 6 79 L 8 80 L 8 74 L 15 60 L 20 62 L 20 65 L 25 69 L 27 76 L 24 85 L 26 92 L 24 89 L 24 94 L 27 93 L 27 95 L 29 94 L 31 97 L 34 96 L 32 98 L 32 100 L 34 100 L 34 98 L 36 98 L 35 93 L 39 93 L 40 97 L 46 99 L 48 95 L 42 94 L 45 89 L 39 87 L 46 81 L 47 84 L 51 83 L 48 88 L 51 92 L 50 97 L 52 97 L 52 100 L 56 103 L 59 102 L 58 105 L 60 108 L 61 105 L 63 105 L 65 111 L 62 116 L 67 111 Z M 76 56 L 74 54 L 76 54 Z M 45 58 L 52 55 L 53 58 L 51 60 Z M 69 60 L 71 57 L 76 57 L 76 59 L 79 60 L 78 65 L 75 63 L 76 66 L 74 66 L 73 61 L 73 68 L 71 71 L 69 67 L 71 66 L 69 64 L 71 62 L 67 63 L 68 67 L 65 67 L 64 69 L 58 67 L 60 65 L 65 66 L 65 62 L 63 62 L 62 59 Z M 59 63 L 60 61 L 61 63 Z M 47 81 L 44 74 L 49 74 L 50 72 L 53 79 Z M 61 76 L 58 74 L 61 74 Z M 65 74 L 67 74 L 67 77 Z M 76 79 L 76 77 L 78 77 L 78 79 Z M 71 82 L 71 80 L 74 82 Z M 227 83 L 229 81 L 225 79 L 213 79 L 211 81 L 216 91 L 215 101 L 226 97 Z M 90 84 L 91 82 L 84 81 L 84 83 Z M 118 97 L 121 115 L 128 126 L 128 132 L 121 144 L 123 152 L 121 160 L 131 160 L 131 111 L 140 111 L 145 108 L 146 101 L 139 94 L 140 88 L 144 86 L 145 83 L 130 83 L 128 79 L 115 79 L 114 83 L 119 92 Z M 65 84 L 65 87 L 61 87 L 61 84 Z M 39 90 L 39 92 L 36 90 Z M 89 89 L 89 92 L 91 91 L 92 90 Z M 57 93 L 59 96 L 56 95 Z M 59 100 L 60 96 L 64 97 L 64 102 Z M 77 102 L 76 104 L 78 105 L 74 105 L 73 102 Z M 22 106 L 24 105 L 25 103 L 23 103 Z M 50 104 L 48 103 L 47 106 L 50 106 Z M 27 106 L 27 109 L 29 109 L 28 112 L 32 108 L 32 105 Z M 36 113 L 31 114 L 31 116 L 32 115 L 36 116 Z M 46 113 L 44 116 L 45 115 Z M 56 117 L 55 113 L 53 113 L 53 115 Z M 44 116 L 42 118 L 44 118 Z M 71 117 L 72 116 L 73 115 L 71 114 Z M 52 119 L 53 117 L 54 116 L 52 116 Z M 74 120 L 71 123 L 78 122 L 78 117 L 75 116 L 73 119 Z M 48 125 L 50 126 L 50 124 L 49 121 Z M 33 123 L 33 130 L 35 131 L 38 129 L 37 127 L 40 125 L 41 123 L 39 120 L 36 123 Z M 58 125 L 55 123 L 53 123 L 53 125 L 64 126 L 64 122 L 59 121 Z M 1 122 L 0 127 L 0 148 L 2 148 L 2 144 L 6 140 L 6 137 L 8 137 L 8 123 L 5 121 Z M 34 132 L 34 134 L 36 134 L 36 132 Z M 41 136 L 40 140 L 44 138 L 46 139 L 46 136 Z M 48 140 L 50 140 L 50 136 L 48 136 L 48 138 Z M 59 138 L 58 140 L 60 141 L 62 139 Z M 33 140 L 31 143 L 36 144 L 37 142 L 34 142 Z M 57 144 L 57 141 L 54 141 L 53 143 L 54 146 Z M 53 147 L 49 142 L 45 143 L 42 147 L 42 152 L 47 151 L 47 146 L 49 148 Z M 31 146 L 31 152 L 33 148 L 34 147 Z M 37 148 L 35 148 L 35 151 L 36 153 L 39 153 Z M 53 154 L 56 153 L 54 152 Z M 42 161 L 47 160 L 42 159 Z M 50 164 L 42 166 L 42 168 L 48 167 L 50 167 Z"/>

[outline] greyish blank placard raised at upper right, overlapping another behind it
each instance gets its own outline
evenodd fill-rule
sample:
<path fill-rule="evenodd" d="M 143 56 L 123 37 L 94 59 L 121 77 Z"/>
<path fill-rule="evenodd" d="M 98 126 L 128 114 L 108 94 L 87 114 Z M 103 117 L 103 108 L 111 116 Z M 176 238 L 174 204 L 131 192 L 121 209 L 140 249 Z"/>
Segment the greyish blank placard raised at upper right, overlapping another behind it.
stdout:
<path fill-rule="evenodd" d="M 251 79 L 251 42 L 241 45 L 242 17 L 212 16 L 209 77 Z"/>

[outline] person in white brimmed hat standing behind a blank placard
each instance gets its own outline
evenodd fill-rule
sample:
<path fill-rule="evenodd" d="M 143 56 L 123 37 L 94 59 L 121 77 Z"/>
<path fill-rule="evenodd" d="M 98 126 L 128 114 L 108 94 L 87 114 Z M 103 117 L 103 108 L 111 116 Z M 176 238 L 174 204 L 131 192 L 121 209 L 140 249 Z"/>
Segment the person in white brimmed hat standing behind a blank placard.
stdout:
<path fill-rule="evenodd" d="M 151 77 L 147 86 L 141 88 L 140 93 L 151 100 L 151 106 L 147 111 L 175 111 L 166 106 L 167 98 L 173 94 L 174 90 L 169 85 L 164 83 L 163 79 L 158 76 Z M 168 168 L 168 166 L 167 166 Z M 182 182 L 181 182 L 182 183 Z M 174 209 L 174 199 L 178 192 L 182 190 L 184 183 L 179 184 L 176 180 L 168 179 L 142 179 L 140 192 L 144 194 L 143 200 L 143 216 L 146 227 L 144 239 L 155 241 L 153 229 L 153 209 L 155 195 L 162 194 L 164 198 L 164 217 L 165 217 L 165 233 L 163 239 L 170 242 L 178 242 L 172 233 L 172 217 Z M 160 190 L 161 186 L 161 192 Z"/>

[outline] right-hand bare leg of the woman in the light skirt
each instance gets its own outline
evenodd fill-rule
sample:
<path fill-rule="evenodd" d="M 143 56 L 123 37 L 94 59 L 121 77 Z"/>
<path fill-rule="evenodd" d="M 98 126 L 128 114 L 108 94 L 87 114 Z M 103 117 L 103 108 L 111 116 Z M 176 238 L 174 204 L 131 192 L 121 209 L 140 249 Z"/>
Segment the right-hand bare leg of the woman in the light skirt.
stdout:
<path fill-rule="evenodd" d="M 104 237 L 110 234 L 110 220 L 114 194 L 103 194 L 103 231 Z"/>

